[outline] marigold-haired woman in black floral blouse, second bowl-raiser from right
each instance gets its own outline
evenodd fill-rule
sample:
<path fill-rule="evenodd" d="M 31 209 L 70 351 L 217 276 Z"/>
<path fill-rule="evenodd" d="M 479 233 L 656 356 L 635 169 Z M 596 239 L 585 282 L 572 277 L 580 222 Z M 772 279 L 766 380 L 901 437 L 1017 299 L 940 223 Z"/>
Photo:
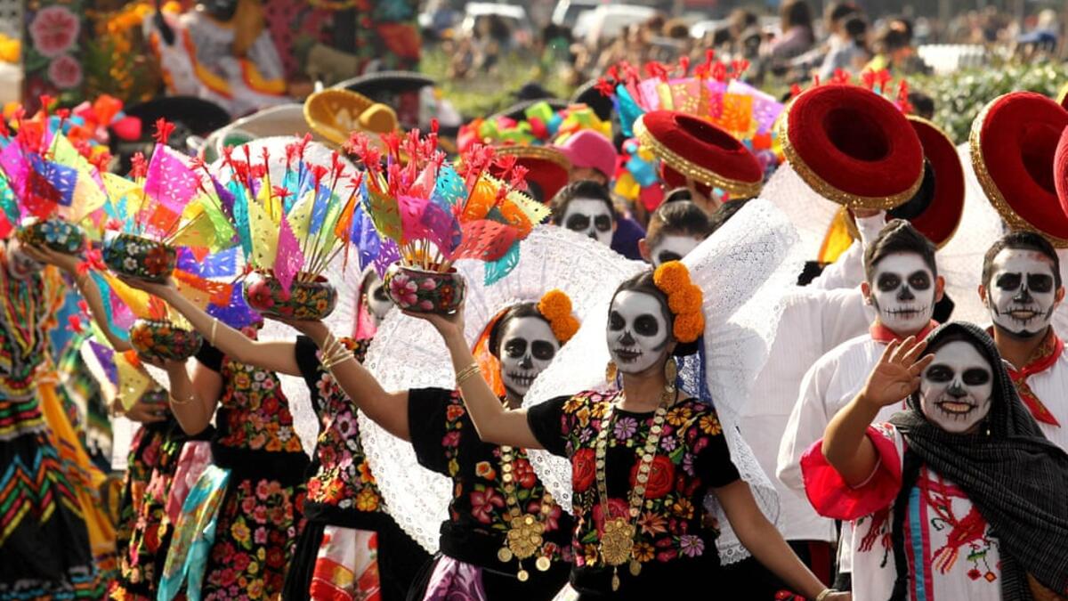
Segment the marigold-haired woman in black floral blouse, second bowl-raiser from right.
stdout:
<path fill-rule="evenodd" d="M 570 299 L 559 290 L 538 303 L 513 305 L 474 344 L 478 367 L 457 380 L 485 377 L 493 383 L 496 402 L 519 406 L 534 379 L 577 329 Z M 310 336 L 329 345 L 328 333 L 310 330 Z M 466 352 L 473 356 L 470 349 Z M 332 370 L 367 417 L 409 441 L 422 466 L 453 482 L 440 554 L 409 599 L 552 599 L 569 571 L 571 521 L 544 490 L 525 450 L 478 440 L 458 390 L 389 394 L 356 361 Z"/>

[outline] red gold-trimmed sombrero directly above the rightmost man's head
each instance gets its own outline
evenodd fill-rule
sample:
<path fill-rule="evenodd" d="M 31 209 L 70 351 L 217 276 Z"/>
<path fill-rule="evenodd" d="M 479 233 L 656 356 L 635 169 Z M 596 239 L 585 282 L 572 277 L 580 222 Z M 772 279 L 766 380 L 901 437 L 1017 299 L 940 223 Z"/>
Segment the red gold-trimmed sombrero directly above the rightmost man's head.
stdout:
<path fill-rule="evenodd" d="M 1068 246 L 1068 216 L 1054 183 L 1053 158 L 1068 111 L 1034 92 L 999 96 L 972 123 L 969 139 L 975 178 L 1012 229 Z"/>

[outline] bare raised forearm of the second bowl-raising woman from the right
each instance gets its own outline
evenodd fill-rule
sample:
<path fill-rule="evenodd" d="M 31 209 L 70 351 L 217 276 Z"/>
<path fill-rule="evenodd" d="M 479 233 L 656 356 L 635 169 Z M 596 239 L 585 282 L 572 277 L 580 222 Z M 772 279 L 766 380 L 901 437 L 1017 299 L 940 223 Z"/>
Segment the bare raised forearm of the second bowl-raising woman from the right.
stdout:
<path fill-rule="evenodd" d="M 408 429 L 408 391 L 387 392 L 375 376 L 366 370 L 352 353 L 348 352 L 323 322 L 286 322 L 323 351 L 323 366 L 330 370 L 334 381 L 352 403 L 387 432 L 410 441 Z M 293 353 L 290 352 L 290 355 Z"/>

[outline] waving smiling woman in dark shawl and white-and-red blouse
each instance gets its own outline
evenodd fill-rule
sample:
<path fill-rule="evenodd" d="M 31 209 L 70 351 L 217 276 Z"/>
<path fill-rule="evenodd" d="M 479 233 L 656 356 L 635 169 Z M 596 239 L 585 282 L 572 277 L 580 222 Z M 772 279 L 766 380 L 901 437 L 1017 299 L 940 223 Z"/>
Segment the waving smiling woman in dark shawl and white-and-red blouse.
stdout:
<path fill-rule="evenodd" d="M 870 425 L 902 398 L 904 413 Z M 820 513 L 875 525 L 848 541 L 860 601 L 1068 591 L 1068 456 L 974 325 L 890 344 L 802 469 Z"/>

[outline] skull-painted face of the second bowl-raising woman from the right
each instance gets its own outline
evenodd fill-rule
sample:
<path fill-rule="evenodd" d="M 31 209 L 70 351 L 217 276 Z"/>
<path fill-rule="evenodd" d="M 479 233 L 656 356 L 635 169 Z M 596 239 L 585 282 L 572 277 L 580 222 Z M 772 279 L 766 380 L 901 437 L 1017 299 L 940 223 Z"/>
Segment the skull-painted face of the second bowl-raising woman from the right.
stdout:
<path fill-rule="evenodd" d="M 521 400 L 534 379 L 560 350 L 552 328 L 541 318 L 515 318 L 501 333 L 501 380 L 509 396 Z"/>

